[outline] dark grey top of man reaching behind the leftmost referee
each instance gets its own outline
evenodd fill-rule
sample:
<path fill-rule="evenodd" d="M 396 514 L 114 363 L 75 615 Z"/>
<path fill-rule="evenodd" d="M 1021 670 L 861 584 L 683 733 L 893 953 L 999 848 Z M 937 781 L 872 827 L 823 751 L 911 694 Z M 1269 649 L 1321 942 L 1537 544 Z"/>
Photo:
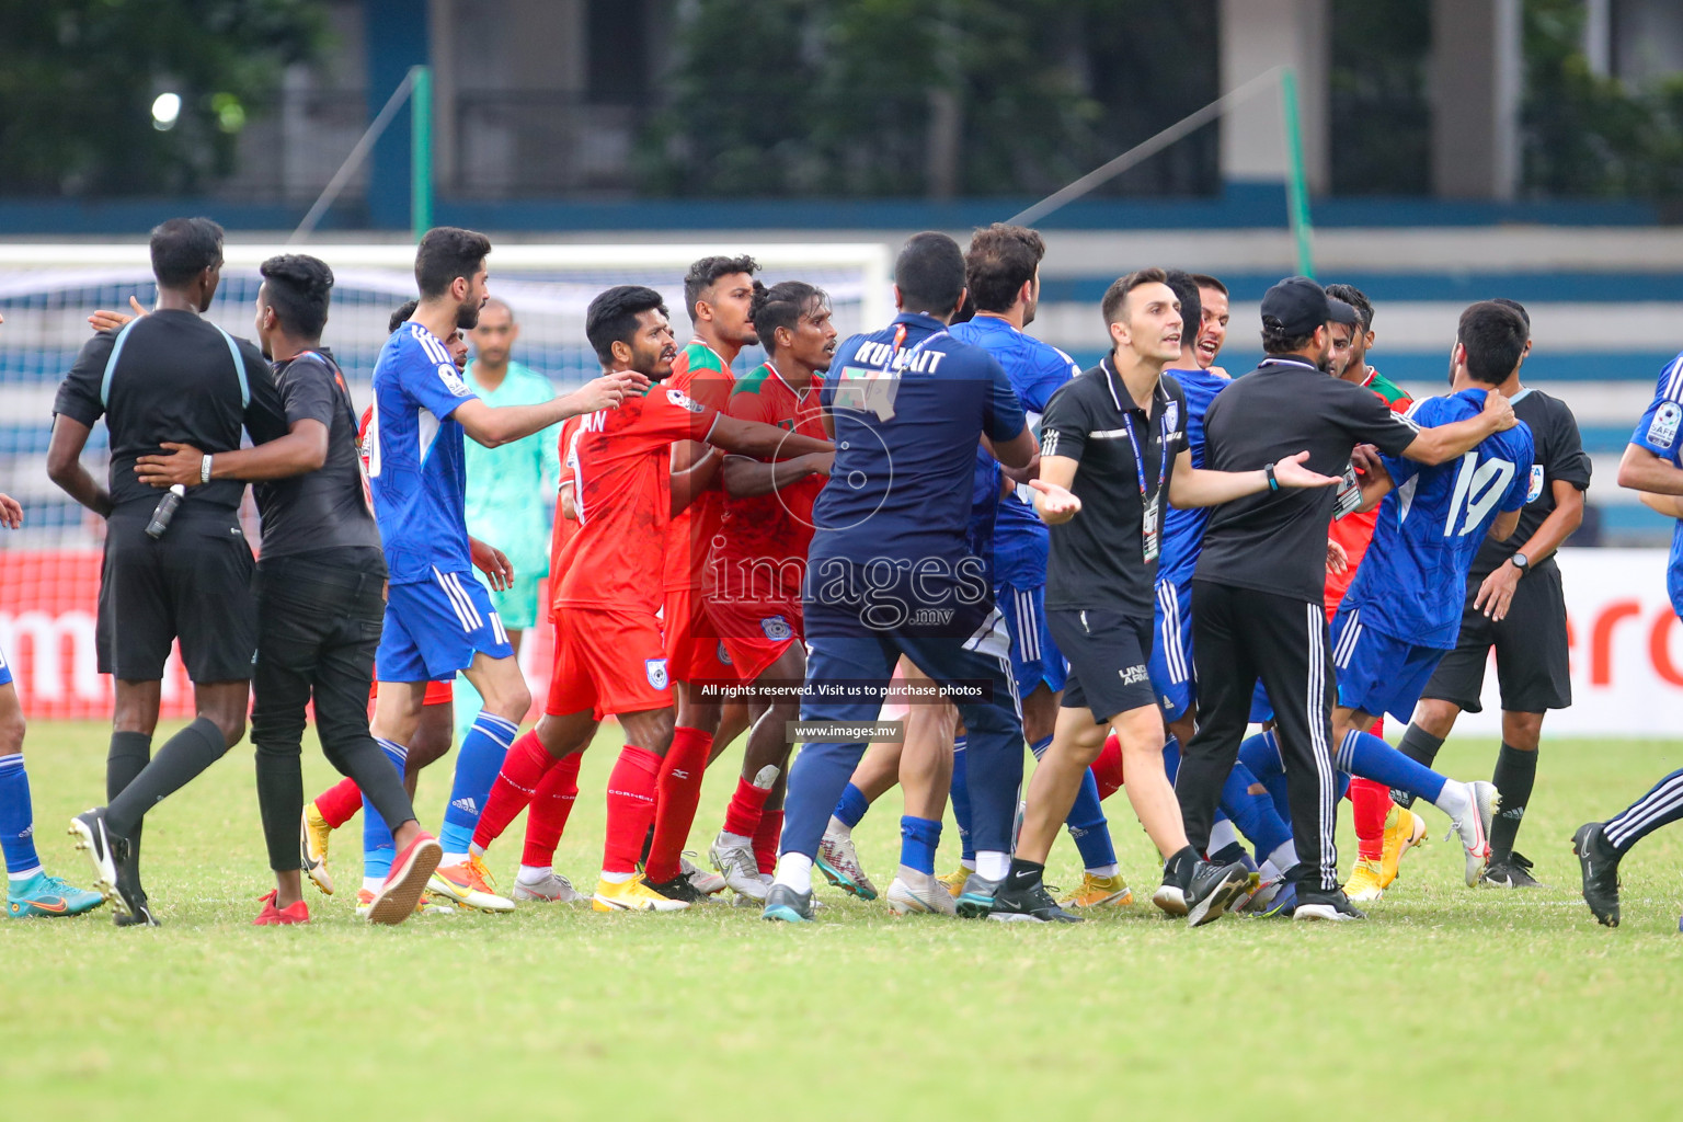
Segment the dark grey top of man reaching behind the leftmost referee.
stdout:
<path fill-rule="evenodd" d="M 300 421 L 327 426 L 327 461 L 316 471 L 252 488 L 263 516 L 263 555 L 343 547 L 379 550 L 380 530 L 369 510 L 357 458 L 357 412 L 332 352 L 306 350 L 274 363 L 274 384 L 288 427 Z"/>

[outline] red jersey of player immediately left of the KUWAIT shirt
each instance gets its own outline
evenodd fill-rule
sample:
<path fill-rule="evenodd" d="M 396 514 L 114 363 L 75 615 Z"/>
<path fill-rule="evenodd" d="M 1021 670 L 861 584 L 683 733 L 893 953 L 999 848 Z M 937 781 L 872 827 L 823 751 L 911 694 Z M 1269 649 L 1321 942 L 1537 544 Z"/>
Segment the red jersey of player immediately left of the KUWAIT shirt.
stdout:
<path fill-rule="evenodd" d="M 799 389 L 789 385 L 769 362 L 737 382 L 729 412 L 742 421 L 778 426 L 820 441 L 825 426 L 818 407 L 823 377 L 815 373 Z M 714 538 L 710 587 L 734 599 L 799 597 L 806 548 L 813 542 L 813 503 L 826 476 L 752 498 L 724 500 L 724 520 Z"/>

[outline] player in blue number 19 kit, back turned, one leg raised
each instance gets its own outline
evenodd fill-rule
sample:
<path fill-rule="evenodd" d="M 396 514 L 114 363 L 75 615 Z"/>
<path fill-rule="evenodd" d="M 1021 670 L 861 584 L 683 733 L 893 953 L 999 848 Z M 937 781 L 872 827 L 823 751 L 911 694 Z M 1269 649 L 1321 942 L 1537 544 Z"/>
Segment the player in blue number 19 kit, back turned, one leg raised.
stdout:
<path fill-rule="evenodd" d="M 1410 419 L 1437 427 L 1476 417 L 1486 394 L 1518 368 L 1528 336 L 1511 308 L 1484 301 L 1463 311 L 1454 394 L 1415 404 Z M 1532 476 L 1532 431 L 1518 422 L 1437 466 L 1360 454 L 1372 479 L 1365 498 L 1383 495 L 1383 505 L 1373 545 L 1333 619 L 1338 767 L 1424 796 L 1449 814 L 1466 846 L 1466 883 L 1476 885 L 1489 858 L 1496 787 L 1447 781 L 1368 730 L 1385 713 L 1407 720 L 1437 663 L 1454 649 L 1473 555 L 1486 533 L 1506 540 L 1520 521 Z"/>

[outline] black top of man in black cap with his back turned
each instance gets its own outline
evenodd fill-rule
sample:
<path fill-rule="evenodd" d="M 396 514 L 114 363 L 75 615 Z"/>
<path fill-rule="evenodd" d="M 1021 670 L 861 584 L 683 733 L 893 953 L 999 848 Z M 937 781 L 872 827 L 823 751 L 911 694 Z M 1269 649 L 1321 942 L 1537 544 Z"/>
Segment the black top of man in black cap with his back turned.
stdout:
<path fill-rule="evenodd" d="M 1256 471 L 1308 449 L 1309 471 L 1338 476 L 1356 444 L 1399 456 L 1417 432 L 1367 387 L 1303 358 L 1267 358 L 1210 402 L 1203 466 Z M 1262 491 L 1217 506 L 1193 579 L 1319 604 L 1336 493 L 1331 486 Z"/>

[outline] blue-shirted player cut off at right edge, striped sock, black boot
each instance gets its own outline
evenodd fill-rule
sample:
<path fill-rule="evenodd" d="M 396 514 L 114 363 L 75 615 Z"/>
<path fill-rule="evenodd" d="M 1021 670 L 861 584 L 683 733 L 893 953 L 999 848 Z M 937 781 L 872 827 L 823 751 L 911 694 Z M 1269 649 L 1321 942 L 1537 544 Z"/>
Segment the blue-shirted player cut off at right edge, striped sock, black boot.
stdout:
<path fill-rule="evenodd" d="M 1671 532 L 1666 594 L 1683 617 L 1683 355 L 1659 372 L 1654 400 L 1636 424 L 1619 461 L 1619 486 L 1641 491 L 1643 503 L 1678 525 Z M 1584 903 L 1607 927 L 1619 925 L 1619 860 L 1638 841 L 1683 818 L 1683 770 L 1675 770 L 1653 791 L 1606 823 L 1584 823 L 1572 848 L 1584 875 Z"/>

